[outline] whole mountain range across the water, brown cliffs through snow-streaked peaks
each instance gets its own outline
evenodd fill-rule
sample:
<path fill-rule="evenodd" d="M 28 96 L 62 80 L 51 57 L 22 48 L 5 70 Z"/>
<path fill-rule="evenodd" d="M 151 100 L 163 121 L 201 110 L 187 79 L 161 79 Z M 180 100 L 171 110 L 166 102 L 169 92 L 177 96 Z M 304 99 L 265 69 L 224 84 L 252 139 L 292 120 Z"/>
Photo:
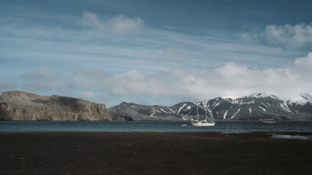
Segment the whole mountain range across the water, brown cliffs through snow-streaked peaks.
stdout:
<path fill-rule="evenodd" d="M 0 120 L 187 121 L 197 115 L 197 109 L 199 120 L 204 119 L 209 106 L 216 121 L 259 121 L 272 118 L 271 103 L 284 121 L 312 120 L 312 96 L 307 93 L 288 100 L 263 92 L 181 102 L 170 107 L 122 102 L 106 108 L 105 104 L 77 98 L 23 91 L 1 93 Z"/>

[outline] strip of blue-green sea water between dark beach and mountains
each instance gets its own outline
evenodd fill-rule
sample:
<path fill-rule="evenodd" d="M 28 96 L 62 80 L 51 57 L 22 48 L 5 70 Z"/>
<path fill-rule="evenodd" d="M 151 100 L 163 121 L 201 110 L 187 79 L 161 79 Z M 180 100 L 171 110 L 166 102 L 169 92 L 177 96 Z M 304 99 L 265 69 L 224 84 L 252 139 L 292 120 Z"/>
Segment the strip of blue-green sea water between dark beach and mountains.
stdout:
<path fill-rule="evenodd" d="M 186 124 L 186 125 L 185 125 Z M 215 126 L 191 126 L 189 121 L 0 121 L 1 131 L 96 131 L 96 132 L 312 132 L 312 121 L 260 124 L 258 121 L 216 122 Z"/>

